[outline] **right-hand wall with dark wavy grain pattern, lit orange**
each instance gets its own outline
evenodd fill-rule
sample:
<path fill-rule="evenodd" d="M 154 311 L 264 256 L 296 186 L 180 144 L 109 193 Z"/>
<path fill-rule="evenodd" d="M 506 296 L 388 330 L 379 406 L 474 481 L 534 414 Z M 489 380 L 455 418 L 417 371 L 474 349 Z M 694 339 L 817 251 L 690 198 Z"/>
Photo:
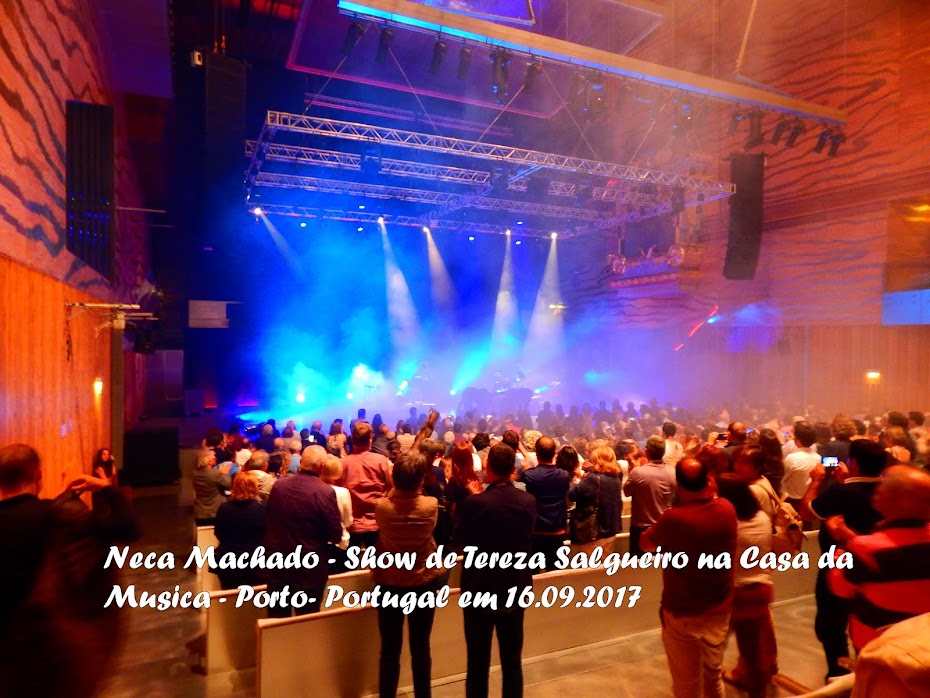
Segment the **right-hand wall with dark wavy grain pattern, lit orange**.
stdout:
<path fill-rule="evenodd" d="M 674 0 L 669 6 L 671 20 L 637 49 L 637 57 L 734 79 L 750 3 Z M 723 279 L 727 206 L 712 203 L 704 207 L 705 251 L 696 288 L 675 296 L 658 288 L 609 289 L 605 260 L 616 242 L 605 236 L 568 243 L 573 247 L 567 257 L 578 264 L 564 279 L 567 302 L 578 314 L 593 308 L 610 318 L 618 337 L 662 328 L 655 335 L 662 347 L 685 337 L 719 306 L 719 325 L 667 354 L 665 366 L 682 392 L 672 399 L 738 400 L 751 393 L 852 409 L 887 397 L 898 408 L 930 408 L 930 332 L 879 326 L 890 204 L 930 194 L 928 33 L 925 2 L 758 3 L 743 76 L 847 110 L 847 142 L 836 157 L 813 152 L 821 129 L 808 122 L 796 147 L 761 148 L 767 154 L 765 224 L 753 281 Z M 721 179 L 729 179 L 725 156 L 742 151 L 746 138 L 745 124 L 737 136 L 728 135 L 732 113 L 708 110 L 700 138 L 692 141 L 717 162 L 709 174 Z M 765 117 L 767 135 L 777 122 L 776 115 Z M 747 316 L 754 327 L 738 327 Z M 727 338 L 746 333 L 774 337 L 781 348 L 734 351 L 741 343 Z M 636 359 L 627 354 L 618 361 Z M 873 395 L 863 382 L 870 367 L 884 374 Z"/>

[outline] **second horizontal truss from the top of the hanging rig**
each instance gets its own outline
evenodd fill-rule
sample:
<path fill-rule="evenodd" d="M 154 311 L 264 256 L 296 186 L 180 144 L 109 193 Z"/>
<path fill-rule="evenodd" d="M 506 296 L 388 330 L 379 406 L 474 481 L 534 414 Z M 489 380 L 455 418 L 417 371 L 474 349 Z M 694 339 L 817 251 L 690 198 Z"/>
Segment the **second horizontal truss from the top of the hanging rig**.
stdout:
<path fill-rule="evenodd" d="M 255 153 L 256 141 L 245 142 L 245 155 L 252 157 Z M 265 160 L 274 162 L 295 162 L 314 167 L 332 167 L 343 170 L 359 171 L 362 166 L 362 156 L 355 153 L 341 153 L 335 150 L 322 150 L 299 145 L 282 145 L 278 143 L 266 144 Z M 487 170 L 472 170 L 462 167 L 447 167 L 409 160 L 395 160 L 382 158 L 381 172 L 396 177 L 411 177 L 429 180 L 440 180 L 454 184 L 487 186 L 491 175 Z M 525 192 L 527 190 L 528 173 L 521 173 L 508 187 L 513 191 Z M 546 193 L 549 196 L 574 198 L 577 195 L 576 185 L 571 182 L 550 181 Z M 616 201 L 621 204 L 651 205 L 658 203 L 659 198 L 653 194 L 623 190 L 618 187 L 592 187 L 591 199 L 599 201 Z"/>

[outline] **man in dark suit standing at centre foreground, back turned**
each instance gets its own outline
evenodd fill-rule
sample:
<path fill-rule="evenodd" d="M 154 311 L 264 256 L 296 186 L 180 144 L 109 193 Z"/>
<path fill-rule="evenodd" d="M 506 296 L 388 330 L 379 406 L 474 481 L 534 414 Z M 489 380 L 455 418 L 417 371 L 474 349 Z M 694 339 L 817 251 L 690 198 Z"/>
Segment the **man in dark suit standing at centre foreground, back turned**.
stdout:
<path fill-rule="evenodd" d="M 516 453 L 500 443 L 488 453 L 488 488 L 466 499 L 460 508 L 455 539 L 463 547 L 475 546 L 480 553 L 524 553 L 526 561 L 533 551 L 536 525 L 536 500 L 513 486 Z M 500 647 L 504 698 L 523 695 L 523 609 L 516 601 L 507 608 L 508 589 L 520 591 L 533 584 L 531 569 L 474 567 L 462 570 L 462 591 L 494 594 L 496 610 L 465 608 L 465 644 L 468 648 L 468 698 L 486 698 L 488 672 L 491 667 L 491 639 L 497 630 Z"/>

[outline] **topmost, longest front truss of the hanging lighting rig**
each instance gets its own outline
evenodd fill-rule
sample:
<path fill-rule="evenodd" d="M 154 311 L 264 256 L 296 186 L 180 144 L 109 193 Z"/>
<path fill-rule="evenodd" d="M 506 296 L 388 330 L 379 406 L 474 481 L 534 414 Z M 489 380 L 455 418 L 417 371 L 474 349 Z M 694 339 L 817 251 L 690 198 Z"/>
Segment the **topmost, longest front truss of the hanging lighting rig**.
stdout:
<path fill-rule="evenodd" d="M 281 130 L 399 148 L 413 148 L 420 151 L 494 160 L 498 163 L 539 165 L 564 172 L 580 172 L 589 176 L 610 177 L 666 187 L 679 186 L 705 192 L 705 194 L 724 193 L 729 196 L 736 192 L 736 186 L 731 182 L 719 182 L 703 177 L 586 160 L 495 143 L 481 143 L 448 136 L 433 136 L 395 128 L 324 119 L 307 114 L 269 111 L 264 130 L 272 133 Z"/>

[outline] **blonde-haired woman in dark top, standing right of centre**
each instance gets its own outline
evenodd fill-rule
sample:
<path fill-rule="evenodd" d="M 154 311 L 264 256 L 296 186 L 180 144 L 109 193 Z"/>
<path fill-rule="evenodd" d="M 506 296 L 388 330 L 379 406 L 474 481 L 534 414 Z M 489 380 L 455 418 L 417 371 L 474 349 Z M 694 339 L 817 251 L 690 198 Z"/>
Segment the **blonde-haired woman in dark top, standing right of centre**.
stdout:
<path fill-rule="evenodd" d="M 613 552 L 614 537 L 622 530 L 623 475 L 617 454 L 610 446 L 591 449 L 588 462 L 591 469 L 569 492 L 569 497 L 576 503 L 572 539 L 581 544 L 584 552 L 590 553 L 601 547 L 606 554 Z"/>

